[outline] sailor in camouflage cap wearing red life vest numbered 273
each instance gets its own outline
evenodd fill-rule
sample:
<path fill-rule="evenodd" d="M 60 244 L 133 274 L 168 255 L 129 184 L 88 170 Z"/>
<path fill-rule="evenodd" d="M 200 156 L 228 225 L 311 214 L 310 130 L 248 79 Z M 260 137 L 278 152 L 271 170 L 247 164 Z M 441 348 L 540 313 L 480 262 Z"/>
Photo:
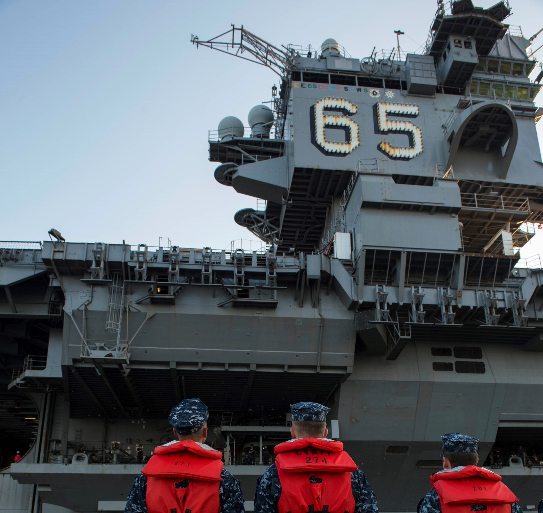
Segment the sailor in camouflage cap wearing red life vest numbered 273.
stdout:
<path fill-rule="evenodd" d="M 125 513 L 243 513 L 239 481 L 223 468 L 222 452 L 204 444 L 207 406 L 185 399 L 168 417 L 178 440 L 156 447 L 134 480 Z"/>

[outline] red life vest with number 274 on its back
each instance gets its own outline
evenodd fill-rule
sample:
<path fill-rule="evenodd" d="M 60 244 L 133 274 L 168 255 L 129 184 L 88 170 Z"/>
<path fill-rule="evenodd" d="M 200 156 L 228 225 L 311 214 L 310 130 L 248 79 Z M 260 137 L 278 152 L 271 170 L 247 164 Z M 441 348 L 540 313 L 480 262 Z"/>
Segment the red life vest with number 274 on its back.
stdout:
<path fill-rule="evenodd" d="M 353 513 L 351 472 L 357 465 L 342 442 L 300 438 L 275 446 L 281 483 L 279 513 Z"/>

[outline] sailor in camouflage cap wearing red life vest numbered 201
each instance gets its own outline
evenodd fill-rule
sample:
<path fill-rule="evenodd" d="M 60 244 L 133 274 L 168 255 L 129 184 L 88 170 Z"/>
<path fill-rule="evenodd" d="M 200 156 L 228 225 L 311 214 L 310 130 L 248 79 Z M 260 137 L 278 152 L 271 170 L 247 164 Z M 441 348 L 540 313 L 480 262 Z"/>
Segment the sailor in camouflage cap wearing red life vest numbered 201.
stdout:
<path fill-rule="evenodd" d="M 502 477 L 477 467 L 476 438 L 460 433 L 441 436 L 443 470 L 430 477 L 432 490 L 420 499 L 417 513 L 522 513 L 515 494 Z"/>

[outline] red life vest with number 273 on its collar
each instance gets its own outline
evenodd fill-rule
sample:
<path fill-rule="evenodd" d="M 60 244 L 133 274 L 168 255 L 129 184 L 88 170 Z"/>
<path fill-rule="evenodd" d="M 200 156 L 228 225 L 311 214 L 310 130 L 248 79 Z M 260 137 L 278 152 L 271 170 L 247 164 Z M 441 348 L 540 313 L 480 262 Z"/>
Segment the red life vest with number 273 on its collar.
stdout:
<path fill-rule="evenodd" d="M 149 513 L 218 513 L 222 453 L 193 440 L 156 447 L 143 467 Z"/>

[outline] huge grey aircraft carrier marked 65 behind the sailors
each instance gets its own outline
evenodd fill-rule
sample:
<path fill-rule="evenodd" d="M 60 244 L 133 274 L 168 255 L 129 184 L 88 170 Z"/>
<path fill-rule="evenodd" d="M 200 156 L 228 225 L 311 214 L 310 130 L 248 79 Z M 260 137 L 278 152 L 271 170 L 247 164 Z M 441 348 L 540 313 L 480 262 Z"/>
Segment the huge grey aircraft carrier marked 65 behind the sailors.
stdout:
<path fill-rule="evenodd" d="M 310 400 L 381 511 L 415 510 L 450 432 L 537 504 L 543 468 L 509 449 L 543 450 L 543 271 L 519 254 L 543 222 L 541 75 L 509 14 L 439 3 L 420 53 L 363 59 L 193 36 L 279 75 L 249 128 L 209 135 L 214 178 L 258 199 L 235 221 L 263 248 L 2 243 L 4 463 L 34 442 L 0 509 L 122 510 L 136 445 L 171 440 L 184 397 L 209 406 L 247 501 L 264 468 L 247 444 L 262 461 Z"/>

